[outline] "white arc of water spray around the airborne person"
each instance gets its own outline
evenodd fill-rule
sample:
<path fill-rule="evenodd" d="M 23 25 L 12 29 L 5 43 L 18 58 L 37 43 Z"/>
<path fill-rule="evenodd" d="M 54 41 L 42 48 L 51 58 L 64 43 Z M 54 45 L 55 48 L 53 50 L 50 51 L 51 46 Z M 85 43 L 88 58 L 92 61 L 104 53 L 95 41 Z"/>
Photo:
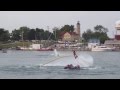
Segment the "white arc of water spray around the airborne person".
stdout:
<path fill-rule="evenodd" d="M 93 66 L 93 58 L 88 54 L 80 54 L 78 55 L 78 58 L 75 59 L 73 55 L 63 56 L 58 54 L 56 49 L 54 50 L 54 53 L 57 59 L 45 66 L 66 66 L 68 64 L 72 64 L 74 66 L 80 65 L 80 67 Z"/>

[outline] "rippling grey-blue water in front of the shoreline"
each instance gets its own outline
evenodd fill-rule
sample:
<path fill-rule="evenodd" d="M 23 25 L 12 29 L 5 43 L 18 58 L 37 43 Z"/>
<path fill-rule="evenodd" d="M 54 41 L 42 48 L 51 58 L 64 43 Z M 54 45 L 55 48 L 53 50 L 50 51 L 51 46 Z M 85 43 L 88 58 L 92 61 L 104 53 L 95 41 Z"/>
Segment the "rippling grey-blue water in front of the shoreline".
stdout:
<path fill-rule="evenodd" d="M 53 51 L 0 51 L 1 79 L 120 79 L 120 52 L 77 52 L 80 55 L 93 57 L 93 66 L 82 70 L 65 70 L 64 64 L 72 57 L 70 51 L 60 51 L 68 56 L 52 62 L 53 66 L 44 63 L 54 60 Z M 88 59 L 88 57 L 85 57 Z M 64 62 L 63 62 L 64 61 Z M 58 66 L 55 66 L 55 63 Z"/>

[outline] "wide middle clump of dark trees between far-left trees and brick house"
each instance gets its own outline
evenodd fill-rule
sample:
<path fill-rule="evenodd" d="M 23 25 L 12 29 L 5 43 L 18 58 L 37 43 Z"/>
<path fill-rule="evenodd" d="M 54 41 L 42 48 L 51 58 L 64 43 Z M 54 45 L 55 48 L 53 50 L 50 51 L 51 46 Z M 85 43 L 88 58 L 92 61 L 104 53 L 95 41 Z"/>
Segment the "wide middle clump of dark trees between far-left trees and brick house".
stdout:
<path fill-rule="evenodd" d="M 30 29 L 25 26 L 20 27 L 18 30 L 15 29 L 11 33 L 11 40 L 22 40 L 22 37 L 23 40 L 47 40 L 51 38 L 54 39 L 54 36 L 49 31 L 45 31 L 39 28 Z"/>

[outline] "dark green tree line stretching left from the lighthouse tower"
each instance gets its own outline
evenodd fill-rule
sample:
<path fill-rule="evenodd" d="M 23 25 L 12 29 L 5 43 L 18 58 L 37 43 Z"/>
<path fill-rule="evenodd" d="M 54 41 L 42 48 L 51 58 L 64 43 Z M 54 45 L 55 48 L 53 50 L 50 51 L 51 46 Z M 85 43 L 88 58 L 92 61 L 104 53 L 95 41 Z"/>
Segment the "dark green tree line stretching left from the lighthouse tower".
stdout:
<path fill-rule="evenodd" d="M 9 30 L 0 28 L 0 41 L 19 41 L 19 40 L 56 40 L 60 39 L 60 33 L 65 31 L 73 31 L 73 25 L 65 25 L 60 29 L 57 27 L 53 28 L 53 32 L 44 29 L 30 29 L 29 27 L 23 26 L 19 29 L 14 29 L 12 33 L 9 33 Z"/>

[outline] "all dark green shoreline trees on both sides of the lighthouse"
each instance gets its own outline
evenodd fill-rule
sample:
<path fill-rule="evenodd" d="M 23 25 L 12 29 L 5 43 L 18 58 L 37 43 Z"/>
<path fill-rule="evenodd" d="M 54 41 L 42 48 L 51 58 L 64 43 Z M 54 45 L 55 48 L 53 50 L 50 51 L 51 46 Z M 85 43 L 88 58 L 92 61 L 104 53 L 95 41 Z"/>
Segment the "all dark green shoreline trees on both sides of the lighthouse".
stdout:
<path fill-rule="evenodd" d="M 61 32 L 73 32 L 74 25 L 64 25 L 61 28 L 54 27 L 53 32 L 44 29 L 31 29 L 23 26 L 19 29 L 14 29 L 11 33 L 9 30 L 0 28 L 0 42 L 19 41 L 19 40 L 58 40 L 61 39 Z M 109 39 L 107 36 L 108 29 L 102 25 L 97 25 L 94 30 L 88 29 L 82 34 L 83 39 L 87 42 L 91 38 L 100 39 L 101 43 Z"/>

